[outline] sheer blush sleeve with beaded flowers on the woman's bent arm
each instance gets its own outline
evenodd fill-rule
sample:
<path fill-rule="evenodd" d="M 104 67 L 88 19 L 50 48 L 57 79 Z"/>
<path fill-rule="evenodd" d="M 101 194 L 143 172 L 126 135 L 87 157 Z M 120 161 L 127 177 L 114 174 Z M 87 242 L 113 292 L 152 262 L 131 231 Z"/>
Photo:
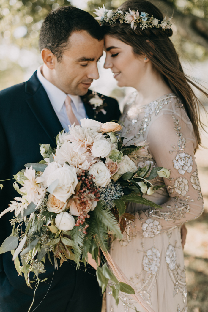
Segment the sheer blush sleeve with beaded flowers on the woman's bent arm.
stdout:
<path fill-rule="evenodd" d="M 157 166 L 171 171 L 170 177 L 164 178 L 169 200 L 162 209 L 138 214 L 142 226 L 137 226 L 137 232 L 153 237 L 199 217 L 203 198 L 194 157 L 196 140 L 185 111 L 164 111 L 152 122 L 147 141 Z"/>

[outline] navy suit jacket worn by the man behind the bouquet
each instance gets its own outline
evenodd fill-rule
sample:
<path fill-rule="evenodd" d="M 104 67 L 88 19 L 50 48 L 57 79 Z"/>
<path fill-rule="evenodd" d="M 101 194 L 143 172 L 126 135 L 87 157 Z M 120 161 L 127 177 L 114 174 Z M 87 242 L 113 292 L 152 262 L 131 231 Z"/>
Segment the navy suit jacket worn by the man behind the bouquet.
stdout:
<path fill-rule="evenodd" d="M 88 92 L 92 93 L 90 90 Z M 97 120 L 104 123 L 119 119 L 118 102 L 105 96 L 105 103 L 107 113 L 104 115 L 99 112 Z M 87 116 L 94 119 L 91 105 L 84 105 Z M 12 175 L 23 169 L 25 163 L 39 162 L 42 159 L 39 143 L 50 143 L 55 148 L 56 135 L 61 130 L 60 121 L 36 72 L 27 82 L 0 91 L 0 180 L 13 178 Z M 0 212 L 8 207 L 14 197 L 19 196 L 12 186 L 13 182 L 14 180 L 2 182 L 4 187 L 0 191 Z M 12 232 L 9 220 L 13 216 L 13 213 L 7 213 L 0 219 L 0 246 Z M 60 281 L 59 275 L 64 274 L 62 267 L 56 273 L 56 283 Z M 52 271 L 53 266 L 49 265 L 46 273 L 41 274 L 41 279 L 52 274 Z M 33 295 L 33 290 L 27 287 L 24 277 L 18 277 L 10 252 L 0 255 L 0 274 L 1 272 L 6 274 L 12 287 Z M 40 285 L 37 294 L 46 293 L 47 289 L 48 285 Z"/>

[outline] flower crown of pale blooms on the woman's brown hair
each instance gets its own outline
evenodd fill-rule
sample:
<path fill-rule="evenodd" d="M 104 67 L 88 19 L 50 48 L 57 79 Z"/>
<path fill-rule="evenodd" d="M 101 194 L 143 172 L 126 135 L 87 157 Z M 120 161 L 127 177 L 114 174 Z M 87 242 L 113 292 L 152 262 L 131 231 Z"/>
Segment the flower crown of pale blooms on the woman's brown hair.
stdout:
<path fill-rule="evenodd" d="M 99 21 L 99 24 L 102 26 L 105 23 L 109 23 L 112 25 L 113 23 L 119 22 L 121 24 L 126 23 L 126 24 L 131 24 L 131 28 L 136 29 L 137 26 L 145 29 L 145 28 L 162 28 L 162 30 L 165 30 L 167 28 L 170 28 L 172 23 L 170 22 L 172 17 L 167 18 L 164 17 L 162 22 L 159 24 L 159 21 L 157 18 L 154 18 L 153 15 L 150 17 L 148 13 L 146 12 L 141 12 L 139 14 L 139 11 L 135 10 L 130 10 L 128 12 L 123 11 L 116 11 L 114 12 L 113 10 L 108 10 L 104 7 L 98 7 L 98 9 L 95 9 L 96 12 L 94 12 L 97 17 L 95 17 L 96 20 Z"/>

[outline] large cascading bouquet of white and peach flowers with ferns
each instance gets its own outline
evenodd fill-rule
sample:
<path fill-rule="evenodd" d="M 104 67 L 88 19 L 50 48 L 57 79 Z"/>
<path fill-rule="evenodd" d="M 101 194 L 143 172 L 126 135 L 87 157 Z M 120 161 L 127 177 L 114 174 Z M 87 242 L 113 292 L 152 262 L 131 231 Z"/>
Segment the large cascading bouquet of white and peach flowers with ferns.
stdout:
<path fill-rule="evenodd" d="M 25 164 L 26 169 L 14 176 L 14 188 L 21 197 L 15 197 L 0 215 L 15 214 L 10 220 L 12 234 L 0 253 L 12 252 L 19 275 L 24 274 L 30 287 L 31 272 L 37 284 L 42 281 L 39 274 L 45 272 L 46 256 L 50 261 L 53 256 L 58 268 L 57 259 L 60 265 L 74 260 L 79 267 L 80 261 L 86 265 L 91 254 L 102 291 L 111 279 L 118 303 L 119 290 L 128 294 L 134 290 L 119 282 L 105 263 L 99 265 L 99 247 L 105 253 L 111 235 L 122 238 L 126 220 L 134 219 L 125 212 L 128 202 L 160 208 L 142 195 L 162 187 L 153 187 L 151 179 L 170 173 L 162 167 L 137 168 L 129 157 L 132 153 L 148 157 L 147 146 L 145 142 L 123 145 L 120 124 L 92 119 L 80 122 L 81 126 L 72 125 L 68 133 L 57 135 L 55 150 L 50 144 L 40 144 L 44 159 Z"/>

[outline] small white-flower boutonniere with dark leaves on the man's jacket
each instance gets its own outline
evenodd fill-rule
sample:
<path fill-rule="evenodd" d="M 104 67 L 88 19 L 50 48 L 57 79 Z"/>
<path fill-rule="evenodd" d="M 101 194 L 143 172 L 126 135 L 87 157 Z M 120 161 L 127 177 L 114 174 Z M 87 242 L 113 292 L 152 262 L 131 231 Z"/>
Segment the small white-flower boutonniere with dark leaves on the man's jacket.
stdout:
<path fill-rule="evenodd" d="M 104 115 L 107 113 L 106 110 L 104 110 L 104 107 L 107 106 L 104 100 L 104 95 L 99 96 L 95 91 L 93 91 L 92 94 L 86 95 L 84 98 L 85 103 L 87 102 L 90 106 L 92 106 L 95 119 L 99 112 L 102 112 Z"/>

